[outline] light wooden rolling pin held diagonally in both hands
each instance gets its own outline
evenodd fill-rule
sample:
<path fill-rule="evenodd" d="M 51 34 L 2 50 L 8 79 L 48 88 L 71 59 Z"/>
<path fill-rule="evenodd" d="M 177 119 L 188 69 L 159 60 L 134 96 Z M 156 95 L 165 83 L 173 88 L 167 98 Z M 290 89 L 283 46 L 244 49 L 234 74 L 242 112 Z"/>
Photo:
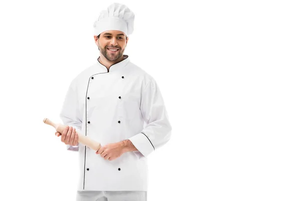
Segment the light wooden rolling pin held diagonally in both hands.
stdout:
<path fill-rule="evenodd" d="M 45 124 L 53 126 L 56 129 L 56 131 L 59 132 L 59 133 L 63 133 L 64 129 L 67 127 L 67 126 L 62 125 L 62 124 L 55 124 L 47 118 L 45 118 L 43 120 L 43 122 Z M 79 143 L 81 143 L 83 145 L 86 145 L 87 147 L 90 147 L 91 149 L 94 149 L 95 151 L 100 149 L 101 145 L 98 142 L 95 142 L 94 140 L 91 140 L 87 136 L 84 136 L 84 135 L 82 135 L 78 132 L 76 132 L 76 133 L 78 134 L 78 142 Z"/>

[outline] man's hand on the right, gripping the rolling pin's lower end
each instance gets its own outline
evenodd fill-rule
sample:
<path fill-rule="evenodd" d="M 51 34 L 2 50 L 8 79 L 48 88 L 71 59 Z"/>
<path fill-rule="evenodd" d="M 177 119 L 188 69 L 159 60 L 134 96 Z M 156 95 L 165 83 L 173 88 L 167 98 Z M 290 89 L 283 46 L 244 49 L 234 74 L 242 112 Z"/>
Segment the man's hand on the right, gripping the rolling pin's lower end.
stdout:
<path fill-rule="evenodd" d="M 124 144 L 121 142 L 107 144 L 102 146 L 96 154 L 100 154 L 105 160 L 114 160 L 124 153 Z"/>

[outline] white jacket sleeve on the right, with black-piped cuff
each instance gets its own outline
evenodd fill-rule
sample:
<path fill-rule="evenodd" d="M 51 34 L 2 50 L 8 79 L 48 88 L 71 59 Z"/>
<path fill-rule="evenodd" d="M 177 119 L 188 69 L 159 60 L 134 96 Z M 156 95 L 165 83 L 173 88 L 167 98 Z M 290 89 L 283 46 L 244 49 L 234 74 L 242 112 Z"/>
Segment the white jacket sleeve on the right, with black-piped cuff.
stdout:
<path fill-rule="evenodd" d="M 140 111 L 146 125 L 129 140 L 143 156 L 147 156 L 166 144 L 172 131 L 161 91 L 154 79 L 141 92 Z"/>

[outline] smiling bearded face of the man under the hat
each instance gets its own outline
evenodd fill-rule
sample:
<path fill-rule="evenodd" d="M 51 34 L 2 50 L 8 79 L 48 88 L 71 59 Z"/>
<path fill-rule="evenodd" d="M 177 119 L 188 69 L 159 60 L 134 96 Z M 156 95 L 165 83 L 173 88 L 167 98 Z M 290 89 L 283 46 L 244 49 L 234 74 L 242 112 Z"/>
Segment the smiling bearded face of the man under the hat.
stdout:
<path fill-rule="evenodd" d="M 123 55 L 127 40 L 121 31 L 105 31 L 99 36 L 94 36 L 94 40 L 101 54 L 109 61 L 115 61 Z"/>

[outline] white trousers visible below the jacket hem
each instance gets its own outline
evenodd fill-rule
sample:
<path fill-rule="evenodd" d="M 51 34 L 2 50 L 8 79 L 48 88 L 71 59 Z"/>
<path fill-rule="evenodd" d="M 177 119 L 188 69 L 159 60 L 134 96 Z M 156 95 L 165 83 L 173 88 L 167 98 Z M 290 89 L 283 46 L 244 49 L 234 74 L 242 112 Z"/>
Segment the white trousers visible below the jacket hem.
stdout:
<path fill-rule="evenodd" d="M 147 191 L 77 191 L 76 201 L 146 201 Z"/>

